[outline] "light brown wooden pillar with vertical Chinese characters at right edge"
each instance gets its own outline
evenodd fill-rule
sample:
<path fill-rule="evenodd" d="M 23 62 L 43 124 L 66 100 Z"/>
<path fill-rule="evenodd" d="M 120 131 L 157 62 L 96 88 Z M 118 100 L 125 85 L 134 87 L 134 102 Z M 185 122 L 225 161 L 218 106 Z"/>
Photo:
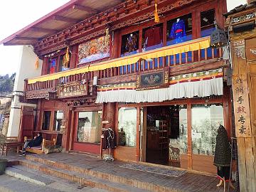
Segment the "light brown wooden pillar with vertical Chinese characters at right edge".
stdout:
<path fill-rule="evenodd" d="M 255 41 L 256 42 L 256 41 Z M 235 114 L 235 134 L 238 144 L 238 166 L 240 191 L 256 191 L 255 185 L 255 125 L 252 114 L 255 111 L 250 98 L 255 88 L 250 83 L 250 64 L 245 57 L 245 38 L 233 38 L 233 103 Z M 256 59 L 255 59 L 256 60 Z M 255 68 L 256 70 L 256 68 Z M 249 87 L 251 85 L 251 87 Z M 256 86 L 256 85 L 255 85 Z M 250 91 L 250 92 L 249 92 Z"/>

